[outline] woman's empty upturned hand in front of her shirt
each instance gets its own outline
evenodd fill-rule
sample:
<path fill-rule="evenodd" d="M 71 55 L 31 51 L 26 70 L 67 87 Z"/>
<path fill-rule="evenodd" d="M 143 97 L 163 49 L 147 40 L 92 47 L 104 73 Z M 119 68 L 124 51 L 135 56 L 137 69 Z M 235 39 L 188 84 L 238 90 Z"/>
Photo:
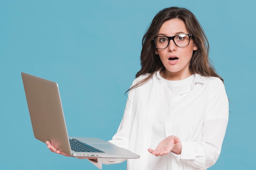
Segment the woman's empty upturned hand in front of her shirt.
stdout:
<path fill-rule="evenodd" d="M 171 135 L 166 137 L 166 139 L 162 140 L 162 142 L 159 143 L 155 150 L 148 149 L 148 152 L 158 157 L 162 155 L 167 155 L 171 151 L 180 155 L 181 149 L 182 145 L 180 139 L 177 136 Z"/>

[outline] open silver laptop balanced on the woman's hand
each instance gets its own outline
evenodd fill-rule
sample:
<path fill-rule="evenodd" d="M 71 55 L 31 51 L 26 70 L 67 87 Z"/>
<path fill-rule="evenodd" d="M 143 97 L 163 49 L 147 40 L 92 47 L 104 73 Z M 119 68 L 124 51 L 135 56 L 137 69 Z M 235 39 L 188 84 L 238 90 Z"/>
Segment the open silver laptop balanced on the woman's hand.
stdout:
<path fill-rule="evenodd" d="M 74 157 L 137 159 L 139 155 L 91 137 L 68 137 L 58 84 L 21 73 L 36 139 Z"/>

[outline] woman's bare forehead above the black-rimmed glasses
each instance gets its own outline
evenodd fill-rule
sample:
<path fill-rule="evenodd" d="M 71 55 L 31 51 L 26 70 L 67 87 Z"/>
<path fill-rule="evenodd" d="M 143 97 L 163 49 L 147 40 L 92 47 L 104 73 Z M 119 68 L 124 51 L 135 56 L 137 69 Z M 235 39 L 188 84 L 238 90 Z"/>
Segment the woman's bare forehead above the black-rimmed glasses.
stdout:
<path fill-rule="evenodd" d="M 180 33 L 188 33 L 185 23 L 177 18 L 168 20 L 162 24 L 158 35 L 173 36 Z"/>

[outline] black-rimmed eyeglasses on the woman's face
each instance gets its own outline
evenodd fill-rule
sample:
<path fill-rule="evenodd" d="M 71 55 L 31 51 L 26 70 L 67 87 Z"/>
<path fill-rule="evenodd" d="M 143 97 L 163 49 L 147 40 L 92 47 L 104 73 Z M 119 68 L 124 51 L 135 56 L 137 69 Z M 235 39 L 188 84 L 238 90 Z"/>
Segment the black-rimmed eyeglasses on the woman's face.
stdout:
<path fill-rule="evenodd" d="M 153 39 L 155 48 L 157 49 L 164 49 L 169 46 L 171 39 L 173 40 L 174 44 L 178 47 L 186 47 L 189 45 L 190 37 L 192 34 L 178 34 L 174 35 L 173 37 L 165 37 L 159 36 Z"/>

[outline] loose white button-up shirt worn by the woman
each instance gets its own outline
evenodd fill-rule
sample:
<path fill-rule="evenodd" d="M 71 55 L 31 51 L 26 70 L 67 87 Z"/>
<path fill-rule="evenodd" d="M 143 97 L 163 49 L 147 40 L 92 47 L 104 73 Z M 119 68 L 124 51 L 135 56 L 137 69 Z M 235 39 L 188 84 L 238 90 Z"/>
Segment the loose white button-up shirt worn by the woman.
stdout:
<path fill-rule="evenodd" d="M 146 78 L 139 76 L 133 82 Z M 190 79 L 189 79 L 190 78 Z M 166 91 L 163 78 L 155 73 L 143 85 L 129 91 L 124 116 L 117 133 L 110 142 L 127 148 L 140 155 L 139 159 L 128 159 L 127 170 L 206 170 L 220 155 L 222 141 L 228 122 L 228 98 L 222 81 L 216 77 L 194 74 L 187 80 L 191 82 L 171 101 L 166 101 L 166 109 L 159 113 L 159 104 L 163 104 Z M 185 83 L 186 84 L 186 83 Z M 166 111 L 168 110 L 168 111 Z M 163 116 L 163 133 L 156 135 L 154 126 L 157 114 Z M 180 138 L 180 155 L 170 152 L 162 157 L 151 155 L 147 149 L 156 148 L 156 144 L 169 135 Z M 155 139 L 153 141 L 152 139 Z M 126 159 L 98 159 L 94 163 L 101 168 L 102 163 L 120 163 Z M 152 165 L 153 163 L 153 165 Z"/>

